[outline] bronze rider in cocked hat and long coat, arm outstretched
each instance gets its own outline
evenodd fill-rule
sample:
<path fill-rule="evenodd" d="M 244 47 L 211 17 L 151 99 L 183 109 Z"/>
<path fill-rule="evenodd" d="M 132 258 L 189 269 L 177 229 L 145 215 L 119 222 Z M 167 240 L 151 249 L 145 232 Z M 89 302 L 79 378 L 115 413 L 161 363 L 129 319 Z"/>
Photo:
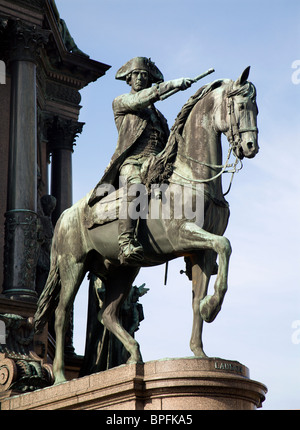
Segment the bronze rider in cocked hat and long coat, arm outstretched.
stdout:
<path fill-rule="evenodd" d="M 90 206 L 101 199 L 100 186 L 104 183 L 117 188 L 119 177 L 127 185 L 142 183 L 142 164 L 150 155 L 156 155 L 164 149 L 169 136 L 167 121 L 154 107 L 154 103 L 167 98 L 174 90 L 185 90 L 192 84 L 191 79 L 185 78 L 163 82 L 160 70 L 145 57 L 135 57 L 128 61 L 118 70 L 116 79 L 125 80 L 131 86 L 131 91 L 113 101 L 114 118 L 119 132 L 117 148 L 90 197 Z M 121 264 L 143 259 L 143 248 L 135 237 L 137 219 L 132 219 L 128 213 L 129 205 L 135 198 L 136 196 L 125 195 L 127 218 L 119 219 Z"/>

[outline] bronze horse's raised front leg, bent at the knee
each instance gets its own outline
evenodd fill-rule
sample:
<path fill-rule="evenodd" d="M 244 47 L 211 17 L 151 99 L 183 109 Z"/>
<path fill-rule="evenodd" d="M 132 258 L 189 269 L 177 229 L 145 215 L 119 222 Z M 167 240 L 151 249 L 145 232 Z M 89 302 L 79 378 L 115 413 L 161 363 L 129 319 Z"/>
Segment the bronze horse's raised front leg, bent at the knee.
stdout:
<path fill-rule="evenodd" d="M 178 251 L 213 250 L 219 255 L 219 268 L 214 285 L 214 294 L 206 296 L 200 303 L 200 314 L 206 322 L 212 322 L 220 312 L 227 291 L 229 258 L 231 245 L 224 236 L 218 236 L 201 229 L 194 223 L 186 222 L 179 229 L 176 244 Z"/>

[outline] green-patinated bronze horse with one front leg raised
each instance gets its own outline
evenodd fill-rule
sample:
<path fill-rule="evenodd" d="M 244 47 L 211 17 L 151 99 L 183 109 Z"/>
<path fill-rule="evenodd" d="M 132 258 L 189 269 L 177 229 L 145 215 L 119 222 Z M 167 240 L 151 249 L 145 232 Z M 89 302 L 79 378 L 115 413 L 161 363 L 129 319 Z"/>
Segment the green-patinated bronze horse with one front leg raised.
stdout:
<path fill-rule="evenodd" d="M 190 187 L 194 197 L 201 186 L 201 222 L 184 215 L 175 219 L 174 210 L 171 210 L 170 217 L 162 217 L 161 213 L 157 217 L 144 217 L 139 222 L 137 233 L 144 248 L 144 258 L 139 264 L 123 265 L 118 260 L 118 220 L 92 228 L 86 226 L 91 192 L 60 216 L 54 230 L 48 279 L 34 318 L 35 331 L 40 332 L 55 311 L 55 384 L 66 380 L 66 326 L 77 291 L 88 272 L 97 276 L 105 286 L 101 308 L 104 327 L 128 351 L 127 363 L 138 363 L 142 362 L 140 346 L 122 327 L 120 307 L 141 267 L 184 257 L 192 280 L 190 348 L 196 357 L 206 357 L 202 343 L 203 322 L 212 322 L 221 309 L 227 291 L 231 255 L 230 241 L 224 236 L 229 205 L 223 193 L 222 175 L 225 171 L 234 172 L 240 160 L 253 158 L 259 150 L 256 89 L 247 80 L 249 70 L 247 67 L 235 81 L 220 79 L 203 86 L 183 107 L 181 112 L 184 114 L 178 115 L 176 126 L 174 124 L 171 129 L 166 146 L 166 152 L 173 154 L 168 184 L 176 184 L 180 190 Z M 222 163 L 222 134 L 229 142 L 225 163 Z M 234 164 L 229 164 L 230 154 L 235 156 Z M 173 202 L 178 198 L 181 196 L 174 195 Z M 208 295 L 213 274 L 216 274 L 214 291 Z"/>

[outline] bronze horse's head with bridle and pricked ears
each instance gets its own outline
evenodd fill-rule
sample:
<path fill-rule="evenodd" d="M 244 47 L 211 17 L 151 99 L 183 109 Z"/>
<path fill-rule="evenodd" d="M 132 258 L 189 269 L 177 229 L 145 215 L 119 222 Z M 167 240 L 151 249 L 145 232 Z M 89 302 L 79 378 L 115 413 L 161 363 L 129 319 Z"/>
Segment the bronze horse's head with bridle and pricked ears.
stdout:
<path fill-rule="evenodd" d="M 247 81 L 249 71 L 247 67 L 235 82 L 230 81 L 220 112 L 221 131 L 239 159 L 253 158 L 259 150 L 256 89 Z"/>

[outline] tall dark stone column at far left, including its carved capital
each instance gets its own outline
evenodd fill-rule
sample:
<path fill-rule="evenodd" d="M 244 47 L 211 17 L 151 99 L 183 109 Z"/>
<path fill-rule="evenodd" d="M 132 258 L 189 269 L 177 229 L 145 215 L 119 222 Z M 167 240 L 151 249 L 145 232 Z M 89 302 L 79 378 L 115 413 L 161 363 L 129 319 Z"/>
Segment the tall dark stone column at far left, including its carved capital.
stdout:
<path fill-rule="evenodd" d="M 11 113 L 3 293 L 25 301 L 36 300 L 36 62 L 48 36 L 48 31 L 9 22 Z"/>

